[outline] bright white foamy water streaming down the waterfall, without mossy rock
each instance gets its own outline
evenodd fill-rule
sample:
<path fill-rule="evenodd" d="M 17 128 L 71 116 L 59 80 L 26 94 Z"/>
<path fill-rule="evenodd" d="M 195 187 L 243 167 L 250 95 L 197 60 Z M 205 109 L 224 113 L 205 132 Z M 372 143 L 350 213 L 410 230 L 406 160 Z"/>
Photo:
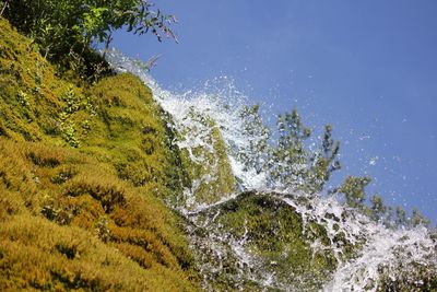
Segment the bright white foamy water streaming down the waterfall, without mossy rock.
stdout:
<path fill-rule="evenodd" d="M 232 82 L 224 83 L 222 91 L 206 92 L 199 90 L 180 94 L 161 89 L 157 82 L 142 67 L 138 66 L 138 61 L 132 61 L 116 50 L 110 50 L 107 58 L 119 71 L 137 74 L 152 89 L 154 98 L 164 110 L 172 115 L 176 130 L 179 133 L 186 133 L 178 138 L 175 143 L 179 148 L 188 150 L 193 162 L 201 164 L 204 160 L 201 154 L 194 154 L 191 151 L 197 147 L 213 151 L 213 148 L 206 141 L 212 129 L 199 120 L 199 117 L 210 118 L 214 121 L 213 127 L 223 136 L 227 147 L 228 160 L 233 173 L 239 182 L 240 189 L 275 194 L 271 196 L 275 196 L 296 209 L 302 215 L 305 226 L 307 222 L 317 222 L 326 227 L 331 242 L 329 248 L 333 249 L 340 264 L 332 275 L 332 281 L 324 287 L 324 291 L 377 291 L 377 282 L 382 275 L 381 270 L 383 270 L 386 277 L 394 278 L 402 269 L 408 269 L 413 264 L 423 265 L 430 269 L 437 268 L 436 243 L 433 242 L 429 231 L 425 227 L 387 229 L 355 210 L 345 208 L 333 196 L 297 194 L 290 186 L 272 180 L 269 170 L 260 172 L 253 167 L 248 167 L 247 161 L 241 156 L 262 161 L 264 159 L 263 153 L 251 152 L 250 141 L 260 141 L 264 137 L 260 133 L 248 135 L 245 132 L 245 120 L 240 113 L 247 103 L 247 98 L 235 90 Z M 245 155 L 241 155 L 241 153 Z M 370 161 L 370 164 L 374 163 L 376 163 L 376 160 L 375 162 Z M 307 166 L 295 165 L 295 167 Z M 208 180 L 211 177 L 204 176 L 201 179 Z M 193 182 L 194 187 L 196 183 L 201 182 Z M 192 215 L 233 200 L 237 194 L 224 197 L 212 205 L 196 205 L 196 198 L 188 189 L 185 190 L 184 196 L 189 198 L 186 203 L 197 206 L 197 209 L 188 211 L 184 206 L 179 206 L 178 209 L 186 215 Z M 305 197 L 305 202 L 297 200 L 298 197 Z M 212 219 L 212 222 L 214 220 L 215 218 Z M 350 260 L 345 258 L 345 243 L 335 240 L 340 234 L 349 244 L 363 246 L 355 258 Z M 256 258 L 246 249 L 245 236 L 235 238 L 229 234 L 211 231 L 206 241 L 209 241 L 209 248 L 214 250 L 217 259 L 226 257 L 225 246 L 229 246 L 234 257 L 239 259 L 241 266 L 252 266 L 259 269 L 259 266 L 255 262 Z M 198 244 L 205 243 L 198 242 Z M 311 247 L 314 252 L 327 248 L 320 242 L 311 243 Z M 220 265 L 213 267 L 205 264 L 201 270 L 218 272 Z M 241 275 L 236 277 L 243 277 Z M 260 279 L 252 280 L 262 283 L 264 287 L 288 289 L 286 283 L 275 282 L 274 272 L 256 273 L 256 276 Z M 255 276 L 249 273 L 249 277 Z M 205 283 L 205 287 L 208 287 L 208 283 Z"/>

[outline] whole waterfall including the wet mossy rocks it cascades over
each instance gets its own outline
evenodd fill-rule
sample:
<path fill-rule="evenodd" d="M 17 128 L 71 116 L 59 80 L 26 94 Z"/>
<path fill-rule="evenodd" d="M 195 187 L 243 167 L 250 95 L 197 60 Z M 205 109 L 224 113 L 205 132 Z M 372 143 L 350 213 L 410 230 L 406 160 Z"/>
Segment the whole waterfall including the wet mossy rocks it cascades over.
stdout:
<path fill-rule="evenodd" d="M 174 143 L 187 153 L 192 167 L 208 165 L 180 195 L 180 200 L 170 203 L 187 220 L 205 290 L 221 290 L 220 281 L 237 290 L 265 291 L 399 291 L 402 284 L 422 291 L 433 281 L 436 284 L 437 240 L 428 229 L 389 229 L 345 207 L 335 196 L 307 194 L 284 186 L 272 178 L 269 168 L 257 168 L 258 162 L 267 163 L 265 153 L 253 151 L 251 145 L 264 137 L 262 132 L 245 130 L 248 120 L 241 113 L 247 98 L 232 82 L 225 82 L 222 90 L 213 93 L 175 93 L 161 89 L 137 60 L 117 50 L 110 50 L 107 58 L 118 71 L 131 72 L 151 87 L 156 102 L 173 119 L 169 126 L 178 132 Z M 218 170 L 223 163 L 223 155 L 216 153 L 218 140 L 224 141 L 235 186 L 209 190 L 226 172 L 226 168 Z M 217 196 L 213 194 L 217 189 L 225 191 Z M 208 191 L 211 196 L 199 195 Z M 249 221 L 253 219 L 252 213 L 244 210 L 245 203 L 250 203 L 256 211 L 264 210 L 273 221 L 276 217 L 283 220 L 279 224 L 268 222 L 274 232 L 267 236 L 274 237 L 275 232 L 282 234 L 279 236 L 288 234 L 282 231 L 281 224 L 292 217 L 284 212 L 292 210 L 298 214 L 297 219 L 293 217 L 297 220 L 293 222 L 302 225 L 299 232 L 310 248 L 311 265 L 331 265 L 332 269 L 316 276 L 287 269 L 286 265 L 295 267 L 294 254 L 298 252 L 290 250 L 293 245 L 286 243 L 279 244 L 274 253 L 260 248 L 260 243 L 272 238 L 258 238 L 253 222 Z M 229 223 L 231 213 L 244 214 L 235 219 L 240 220 L 236 230 Z M 304 270 L 300 266 L 296 267 Z"/>

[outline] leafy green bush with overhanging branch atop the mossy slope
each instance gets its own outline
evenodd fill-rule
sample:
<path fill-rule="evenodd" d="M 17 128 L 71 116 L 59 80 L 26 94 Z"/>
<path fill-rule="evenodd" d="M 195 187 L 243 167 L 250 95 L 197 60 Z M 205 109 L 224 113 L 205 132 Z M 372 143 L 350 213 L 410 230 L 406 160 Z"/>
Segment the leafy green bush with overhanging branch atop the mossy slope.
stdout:
<path fill-rule="evenodd" d="M 147 0 L 5 0 L 4 16 L 39 45 L 44 56 L 82 73 L 107 70 L 93 43 L 111 40 L 114 31 L 126 27 L 134 34 L 152 32 L 161 42 L 176 39 L 173 15 L 154 10 Z M 91 68 L 95 67 L 95 68 Z"/>

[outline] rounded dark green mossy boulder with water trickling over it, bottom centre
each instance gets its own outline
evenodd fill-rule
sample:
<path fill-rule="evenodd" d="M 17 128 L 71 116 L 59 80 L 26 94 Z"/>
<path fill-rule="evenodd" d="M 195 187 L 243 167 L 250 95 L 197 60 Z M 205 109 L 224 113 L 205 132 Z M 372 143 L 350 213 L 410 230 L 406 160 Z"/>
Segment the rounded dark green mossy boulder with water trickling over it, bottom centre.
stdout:
<path fill-rule="evenodd" d="M 206 224 L 211 218 L 214 221 Z M 286 283 L 285 291 L 290 288 L 314 291 L 322 288 L 338 265 L 324 227 L 316 222 L 304 224 L 294 208 L 271 195 L 244 192 L 233 200 L 200 212 L 197 219 L 204 222 L 196 230 L 197 236 L 210 232 L 209 236 L 216 238 L 216 243 L 225 237 L 222 240 L 225 241 L 222 243 L 223 250 L 217 246 L 197 243 L 200 249 L 198 253 L 203 258 L 211 257 L 215 265 L 223 266 L 223 269 L 212 269 L 212 273 L 204 276 L 209 277 L 211 290 L 258 291 L 261 290 L 259 283 L 248 279 L 263 279 L 274 273 L 275 282 L 272 284 Z M 250 260 L 257 262 L 257 269 L 241 267 L 238 259 L 226 249 L 240 241 L 245 241 L 245 250 L 251 257 Z M 317 250 L 311 246 L 314 242 L 320 243 Z M 243 273 L 251 275 L 241 277 L 246 279 L 244 288 L 235 277 L 241 270 Z"/>

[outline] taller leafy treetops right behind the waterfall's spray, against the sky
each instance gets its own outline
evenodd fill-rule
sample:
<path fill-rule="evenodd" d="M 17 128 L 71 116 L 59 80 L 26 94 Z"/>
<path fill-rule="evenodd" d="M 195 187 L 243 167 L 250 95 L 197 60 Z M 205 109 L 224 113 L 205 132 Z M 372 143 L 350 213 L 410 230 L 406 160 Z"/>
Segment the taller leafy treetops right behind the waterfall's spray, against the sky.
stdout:
<path fill-rule="evenodd" d="M 308 194 L 321 191 L 331 174 L 340 170 L 336 159 L 340 142 L 332 139 L 332 127 L 326 126 L 320 145 L 316 150 L 308 148 L 312 130 L 306 127 L 294 109 L 277 118 L 276 132 L 263 125 L 259 106 L 245 108 L 244 131 L 253 140 L 246 151 L 239 153 L 248 161 L 247 167 L 260 173 L 269 173 L 272 184 L 305 190 Z M 276 141 L 273 141 L 277 136 Z"/>

